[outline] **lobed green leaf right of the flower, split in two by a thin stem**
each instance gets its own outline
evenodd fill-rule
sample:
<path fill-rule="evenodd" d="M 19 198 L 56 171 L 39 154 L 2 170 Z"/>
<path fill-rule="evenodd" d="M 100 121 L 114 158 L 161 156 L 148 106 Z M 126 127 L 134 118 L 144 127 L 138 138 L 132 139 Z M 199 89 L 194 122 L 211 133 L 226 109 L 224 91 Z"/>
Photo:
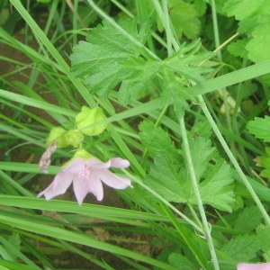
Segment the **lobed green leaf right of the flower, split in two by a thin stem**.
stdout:
<path fill-rule="evenodd" d="M 142 143 L 148 148 L 148 154 L 154 157 L 148 184 L 168 202 L 195 204 L 193 185 L 184 166 L 184 157 L 177 153 L 165 131 L 148 123 L 142 123 L 140 130 Z M 190 150 L 202 202 L 222 211 L 231 211 L 234 193 L 229 165 L 211 147 L 209 139 L 190 139 Z"/>

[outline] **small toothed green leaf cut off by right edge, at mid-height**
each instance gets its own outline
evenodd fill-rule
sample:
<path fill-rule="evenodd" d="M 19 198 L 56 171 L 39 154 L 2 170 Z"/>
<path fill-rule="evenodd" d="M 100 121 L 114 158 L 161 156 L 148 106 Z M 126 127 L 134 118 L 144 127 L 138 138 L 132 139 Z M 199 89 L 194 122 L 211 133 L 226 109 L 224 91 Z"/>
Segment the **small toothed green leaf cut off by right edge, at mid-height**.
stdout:
<path fill-rule="evenodd" d="M 265 118 L 256 117 L 253 121 L 248 121 L 247 130 L 254 134 L 256 138 L 270 141 L 270 116 Z"/>

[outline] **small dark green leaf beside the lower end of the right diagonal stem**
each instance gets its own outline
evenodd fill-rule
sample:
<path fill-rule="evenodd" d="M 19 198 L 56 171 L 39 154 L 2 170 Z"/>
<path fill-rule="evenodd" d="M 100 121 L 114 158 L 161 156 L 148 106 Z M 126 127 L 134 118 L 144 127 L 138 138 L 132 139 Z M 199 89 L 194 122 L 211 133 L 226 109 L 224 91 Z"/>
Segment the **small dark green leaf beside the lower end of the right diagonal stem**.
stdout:
<path fill-rule="evenodd" d="M 257 206 L 250 206 L 244 208 L 238 213 L 237 219 L 235 220 L 234 229 L 244 229 L 252 231 L 257 227 L 262 216 L 257 211 Z"/>

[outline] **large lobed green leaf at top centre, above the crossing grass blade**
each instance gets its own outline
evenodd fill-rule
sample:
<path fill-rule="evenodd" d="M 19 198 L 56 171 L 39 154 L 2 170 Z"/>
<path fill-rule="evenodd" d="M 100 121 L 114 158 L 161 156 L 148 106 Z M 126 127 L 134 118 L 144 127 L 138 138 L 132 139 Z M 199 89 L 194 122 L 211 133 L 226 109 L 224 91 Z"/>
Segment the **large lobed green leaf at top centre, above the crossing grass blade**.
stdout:
<path fill-rule="evenodd" d="M 119 24 L 142 43 L 148 37 L 148 29 L 139 32 L 134 20 L 121 20 Z M 107 97 L 117 86 L 118 99 L 123 104 L 153 94 L 156 89 L 167 93 L 167 85 L 160 87 L 156 84 L 162 80 L 168 81 L 166 76 L 169 73 L 175 76 L 177 85 L 190 85 L 190 79 L 200 82 L 205 79 L 203 75 L 211 71 L 210 67 L 201 66 L 202 61 L 212 54 L 205 51 L 198 53 L 202 48 L 200 40 L 183 44 L 174 56 L 164 60 L 149 58 L 138 45 L 134 45 L 110 23 L 104 22 L 96 27 L 87 40 L 80 41 L 74 47 L 71 70 L 85 80 L 92 94 Z M 182 99 L 175 98 L 175 101 L 184 104 L 184 99 L 186 95 Z"/>

